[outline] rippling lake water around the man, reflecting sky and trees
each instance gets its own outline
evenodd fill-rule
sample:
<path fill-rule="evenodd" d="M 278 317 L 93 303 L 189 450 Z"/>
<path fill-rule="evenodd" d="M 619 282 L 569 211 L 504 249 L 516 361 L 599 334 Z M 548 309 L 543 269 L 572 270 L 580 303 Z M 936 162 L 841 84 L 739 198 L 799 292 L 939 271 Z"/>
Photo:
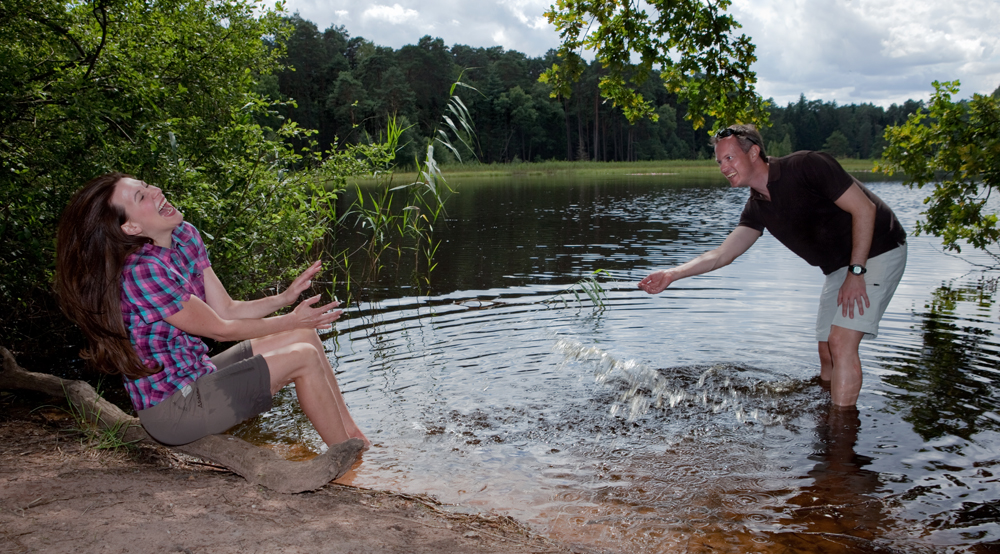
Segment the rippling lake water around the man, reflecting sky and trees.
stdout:
<path fill-rule="evenodd" d="M 862 343 L 859 409 L 831 410 L 823 276 L 769 235 L 660 295 L 635 286 L 722 242 L 748 191 L 720 179 L 452 182 L 430 289 L 385 281 L 327 339 L 375 443 L 343 482 L 583 551 L 1000 548 L 1000 309 L 973 265 L 989 260 L 911 237 Z M 869 186 L 912 231 L 926 192 Z M 567 292 L 597 269 L 604 309 Z M 242 432 L 317 446 L 293 399 Z"/>

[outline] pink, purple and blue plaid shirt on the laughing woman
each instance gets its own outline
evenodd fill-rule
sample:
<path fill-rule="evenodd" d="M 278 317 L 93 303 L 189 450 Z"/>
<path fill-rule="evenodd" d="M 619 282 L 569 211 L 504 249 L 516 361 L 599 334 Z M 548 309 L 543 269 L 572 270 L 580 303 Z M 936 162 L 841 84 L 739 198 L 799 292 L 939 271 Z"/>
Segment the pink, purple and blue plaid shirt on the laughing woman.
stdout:
<path fill-rule="evenodd" d="M 193 225 L 181 223 L 171 237 L 172 248 L 143 245 L 125 259 L 122 269 L 122 317 L 132 345 L 146 367 L 163 367 L 149 377 L 124 379 L 136 410 L 155 406 L 216 369 L 200 338 L 165 321 L 191 295 L 205 300 L 202 271 L 211 265 Z"/>

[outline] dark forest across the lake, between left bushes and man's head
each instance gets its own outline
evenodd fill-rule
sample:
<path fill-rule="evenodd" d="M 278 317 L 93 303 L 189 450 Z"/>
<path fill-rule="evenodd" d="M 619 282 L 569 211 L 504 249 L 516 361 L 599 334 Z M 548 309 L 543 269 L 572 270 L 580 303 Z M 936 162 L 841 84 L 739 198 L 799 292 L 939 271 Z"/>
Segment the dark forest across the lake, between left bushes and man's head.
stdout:
<path fill-rule="evenodd" d="M 473 150 L 456 145 L 462 158 L 474 156 L 483 163 L 611 161 L 709 153 L 704 134 L 695 133 L 684 119 L 686 106 L 656 84 L 659 79 L 648 80 L 640 92 L 660 120 L 633 125 L 611 102 L 600 100 L 602 69 L 596 62 L 583 64 L 568 98 L 552 98 L 552 87 L 538 77 L 557 60 L 554 51 L 532 58 L 500 47 L 444 48 L 430 37 L 393 51 L 350 37 L 343 27 L 321 32 L 298 17 L 289 22 L 295 27 L 287 43 L 289 67 L 277 73 L 278 90 L 268 89 L 268 94 L 294 99 L 294 104 L 279 107 L 280 113 L 317 129 L 313 138 L 324 149 L 364 143 L 396 117 L 405 129 L 397 159 L 415 169 L 413 160 L 425 154 L 424 145 L 447 109 L 450 83 L 460 79 L 478 91 L 462 98 L 477 129 Z M 447 148 L 439 148 L 437 159 L 441 164 L 458 161 Z"/>

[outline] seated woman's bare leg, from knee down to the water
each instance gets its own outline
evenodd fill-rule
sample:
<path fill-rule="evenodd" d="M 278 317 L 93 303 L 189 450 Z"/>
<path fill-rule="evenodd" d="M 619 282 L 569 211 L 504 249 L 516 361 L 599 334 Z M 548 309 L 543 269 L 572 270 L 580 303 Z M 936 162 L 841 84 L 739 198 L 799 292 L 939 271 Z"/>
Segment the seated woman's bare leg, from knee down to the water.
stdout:
<path fill-rule="evenodd" d="M 271 394 L 294 382 L 302 411 L 327 445 L 358 438 L 365 442 L 366 449 L 371 446 L 347 410 L 316 331 L 298 329 L 268 335 L 252 339 L 250 345 L 254 354 L 267 361 Z"/>

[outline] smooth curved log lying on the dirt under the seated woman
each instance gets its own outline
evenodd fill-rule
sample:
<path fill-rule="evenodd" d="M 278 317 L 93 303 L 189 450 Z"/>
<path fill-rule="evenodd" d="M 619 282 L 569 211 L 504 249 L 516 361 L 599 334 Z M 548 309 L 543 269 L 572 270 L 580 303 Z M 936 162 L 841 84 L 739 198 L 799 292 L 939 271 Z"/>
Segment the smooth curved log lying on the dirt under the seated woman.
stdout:
<path fill-rule="evenodd" d="M 88 383 L 27 371 L 3 347 L 0 347 L 0 356 L 3 357 L 0 389 L 29 390 L 65 398 L 88 422 L 116 432 L 122 442 L 160 445 L 146 433 L 138 418 L 101 398 Z M 350 439 L 306 462 L 285 460 L 271 450 L 228 435 L 209 435 L 168 448 L 222 465 L 251 484 L 281 493 L 297 493 L 316 490 L 347 473 L 363 447 L 360 439 Z"/>

